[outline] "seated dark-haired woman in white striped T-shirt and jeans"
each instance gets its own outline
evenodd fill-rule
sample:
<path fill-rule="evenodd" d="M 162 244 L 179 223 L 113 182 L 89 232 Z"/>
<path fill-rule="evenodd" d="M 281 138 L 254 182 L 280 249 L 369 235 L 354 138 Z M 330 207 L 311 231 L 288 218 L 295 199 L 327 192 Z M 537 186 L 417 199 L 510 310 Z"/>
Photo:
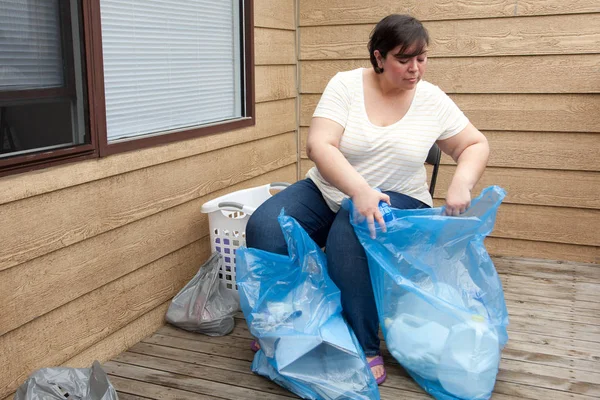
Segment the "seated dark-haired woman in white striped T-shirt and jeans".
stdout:
<path fill-rule="evenodd" d="M 316 167 L 259 207 L 246 228 L 248 247 L 287 254 L 277 223 L 283 207 L 326 247 L 344 316 L 379 384 L 386 373 L 369 267 L 341 201 L 352 199 L 372 236 L 375 223 L 385 231 L 380 200 L 402 209 L 431 207 L 424 161 L 437 143 L 457 162 L 446 195 L 447 214 L 457 216 L 469 207 L 489 154 L 485 136 L 422 80 L 428 44 L 426 29 L 410 16 L 390 15 L 377 24 L 368 45 L 373 68 L 338 73 L 313 114 L 307 153 Z"/>

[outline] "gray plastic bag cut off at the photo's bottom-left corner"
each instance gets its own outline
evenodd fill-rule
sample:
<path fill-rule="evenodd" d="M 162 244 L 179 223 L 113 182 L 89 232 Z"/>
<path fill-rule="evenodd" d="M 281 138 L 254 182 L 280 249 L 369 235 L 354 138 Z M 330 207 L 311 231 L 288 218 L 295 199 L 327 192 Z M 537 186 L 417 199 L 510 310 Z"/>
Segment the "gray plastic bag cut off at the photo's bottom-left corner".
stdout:
<path fill-rule="evenodd" d="M 92 368 L 42 368 L 19 386 L 13 400 L 118 400 L 98 361 Z"/>

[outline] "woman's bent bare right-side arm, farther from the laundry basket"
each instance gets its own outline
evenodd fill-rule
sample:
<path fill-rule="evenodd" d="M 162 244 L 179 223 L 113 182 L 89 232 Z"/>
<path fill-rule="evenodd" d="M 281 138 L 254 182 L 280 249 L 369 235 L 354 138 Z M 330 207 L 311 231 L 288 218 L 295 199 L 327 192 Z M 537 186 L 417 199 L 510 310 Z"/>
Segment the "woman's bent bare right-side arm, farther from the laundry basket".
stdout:
<path fill-rule="evenodd" d="M 457 216 L 471 205 L 471 190 L 487 165 L 490 147 L 483 133 L 470 122 L 460 133 L 437 144 L 457 163 L 446 194 L 446 214 Z"/>

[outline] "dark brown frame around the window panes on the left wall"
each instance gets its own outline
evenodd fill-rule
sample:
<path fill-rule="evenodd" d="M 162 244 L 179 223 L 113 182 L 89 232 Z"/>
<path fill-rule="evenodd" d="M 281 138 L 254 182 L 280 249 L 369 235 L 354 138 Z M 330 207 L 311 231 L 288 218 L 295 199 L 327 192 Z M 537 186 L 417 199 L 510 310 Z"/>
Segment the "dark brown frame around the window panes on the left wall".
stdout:
<path fill-rule="evenodd" d="M 206 126 L 198 126 L 190 129 L 182 129 L 176 132 L 165 134 L 149 135 L 147 137 L 131 138 L 129 140 L 108 142 L 106 128 L 106 100 L 104 96 L 104 62 L 102 56 L 102 28 L 100 18 L 100 0 L 83 0 L 83 43 L 85 53 L 85 71 L 87 77 L 87 103 L 89 118 L 89 144 L 74 145 L 59 150 L 48 152 L 32 153 L 30 155 L 16 156 L 5 160 L 0 160 L 0 176 L 25 172 L 34 169 L 46 168 L 67 162 L 81 161 L 90 158 L 105 157 L 112 154 L 126 151 L 139 150 L 147 147 L 154 147 L 167 143 L 178 142 L 182 140 L 197 138 L 206 135 L 228 132 L 235 129 L 241 129 L 256 124 L 256 105 L 254 88 L 254 0 L 240 0 L 243 4 L 243 13 L 240 15 L 240 22 L 243 22 L 243 60 L 245 76 L 243 86 L 245 95 L 244 117 L 232 121 L 215 122 Z M 68 1 L 61 1 L 61 4 Z M 68 17 L 68 9 L 63 8 L 61 13 L 66 13 L 63 17 Z M 68 20 L 69 29 L 62 29 L 61 32 L 68 31 L 70 34 L 71 21 Z M 63 43 L 65 38 L 63 35 Z M 63 46 L 71 48 L 71 46 Z M 71 50 L 72 51 L 72 50 Z M 70 54 L 73 57 L 73 54 Z M 70 66 L 72 69 L 72 59 Z M 73 73 L 73 71 L 68 71 Z M 67 83 L 65 88 L 36 90 L 36 93 L 21 93 L 19 98 L 56 98 L 72 93 L 74 90 L 73 81 Z M 25 92 L 25 91 L 23 91 Z M 33 91 L 32 91 L 33 92 Z M 15 92 L 11 92 L 14 94 Z M 9 93 L 7 93 L 8 97 Z M 0 100 L 3 99 L 0 97 Z M 15 99 L 15 97 L 11 97 Z"/>

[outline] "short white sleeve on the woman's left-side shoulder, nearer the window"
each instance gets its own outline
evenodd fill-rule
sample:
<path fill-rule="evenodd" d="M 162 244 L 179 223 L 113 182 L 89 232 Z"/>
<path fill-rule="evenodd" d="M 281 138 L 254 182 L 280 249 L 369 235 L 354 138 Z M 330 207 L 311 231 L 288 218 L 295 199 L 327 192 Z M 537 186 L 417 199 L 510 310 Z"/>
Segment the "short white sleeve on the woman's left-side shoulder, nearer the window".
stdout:
<path fill-rule="evenodd" d="M 342 79 L 342 74 L 337 73 L 323 91 L 313 117 L 330 119 L 345 128 L 349 110 L 350 90 Z"/>

